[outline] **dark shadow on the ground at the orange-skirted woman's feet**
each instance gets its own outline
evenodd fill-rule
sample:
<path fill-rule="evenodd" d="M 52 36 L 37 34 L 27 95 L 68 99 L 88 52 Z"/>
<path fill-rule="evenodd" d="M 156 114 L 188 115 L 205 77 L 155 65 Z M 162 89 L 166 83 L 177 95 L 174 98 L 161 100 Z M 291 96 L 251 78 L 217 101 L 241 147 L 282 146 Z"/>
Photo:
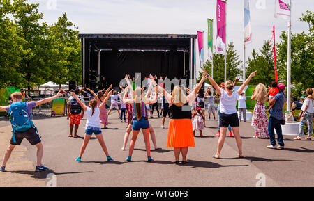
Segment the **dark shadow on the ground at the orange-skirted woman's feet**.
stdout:
<path fill-rule="evenodd" d="M 153 161 L 152 163 L 158 163 L 158 164 L 173 164 L 176 166 L 172 161 Z M 180 163 L 177 166 L 190 166 L 191 168 L 226 168 L 226 167 L 246 167 L 249 165 L 220 165 L 218 163 L 213 163 L 211 161 L 195 161 L 195 160 L 189 160 L 188 163 Z"/>

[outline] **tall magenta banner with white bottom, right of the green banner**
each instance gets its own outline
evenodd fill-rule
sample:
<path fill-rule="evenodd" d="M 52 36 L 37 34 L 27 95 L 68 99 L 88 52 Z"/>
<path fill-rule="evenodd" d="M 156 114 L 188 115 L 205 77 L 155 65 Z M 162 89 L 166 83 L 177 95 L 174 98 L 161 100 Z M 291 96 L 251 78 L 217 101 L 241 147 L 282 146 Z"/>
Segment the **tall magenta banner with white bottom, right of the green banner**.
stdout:
<path fill-rule="evenodd" d="M 225 1 L 217 0 L 216 54 L 225 54 Z"/>

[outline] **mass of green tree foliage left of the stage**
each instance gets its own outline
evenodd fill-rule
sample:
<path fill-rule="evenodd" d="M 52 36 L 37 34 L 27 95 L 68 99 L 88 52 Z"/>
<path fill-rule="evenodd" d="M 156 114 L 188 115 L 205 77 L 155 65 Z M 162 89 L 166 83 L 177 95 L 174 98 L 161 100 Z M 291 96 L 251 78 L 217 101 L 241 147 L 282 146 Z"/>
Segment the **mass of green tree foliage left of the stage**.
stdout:
<path fill-rule="evenodd" d="M 0 0 L 0 88 L 82 83 L 80 39 L 66 13 L 48 26 L 38 3 Z"/>

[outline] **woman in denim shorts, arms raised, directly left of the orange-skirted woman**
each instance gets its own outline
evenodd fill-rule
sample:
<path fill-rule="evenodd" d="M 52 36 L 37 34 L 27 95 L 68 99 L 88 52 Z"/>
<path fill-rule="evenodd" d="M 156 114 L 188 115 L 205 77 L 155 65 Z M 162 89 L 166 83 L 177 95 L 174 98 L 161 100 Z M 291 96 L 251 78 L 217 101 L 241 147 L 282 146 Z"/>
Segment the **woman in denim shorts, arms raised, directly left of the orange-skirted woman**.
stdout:
<path fill-rule="evenodd" d="M 151 162 L 154 161 L 151 158 L 151 145 L 149 143 L 149 120 L 148 120 L 148 115 L 147 115 L 147 109 L 146 109 L 146 104 L 154 104 L 157 102 L 157 94 L 158 94 L 158 88 L 157 84 L 154 81 L 154 78 L 150 75 L 151 78 L 151 84 L 149 87 L 154 86 L 155 87 L 155 97 L 153 100 L 147 99 L 147 97 L 142 97 L 143 91 L 142 88 L 137 87 L 135 88 L 134 92 L 134 99 L 126 99 L 124 97 L 124 102 L 126 104 L 133 104 L 133 126 L 132 126 L 132 139 L 130 140 L 130 149 L 128 152 L 128 157 L 126 158 L 126 161 L 130 162 L 132 161 L 132 154 L 135 146 L 135 142 L 137 139 L 137 135 L 140 132 L 140 129 L 142 129 L 142 133 L 144 135 L 144 143 L 146 147 L 146 152 L 147 152 L 147 161 Z M 128 77 L 126 76 L 126 81 L 128 82 L 128 86 L 130 86 L 130 81 L 128 81 Z M 130 93 L 133 93 L 132 86 L 130 86 Z"/>

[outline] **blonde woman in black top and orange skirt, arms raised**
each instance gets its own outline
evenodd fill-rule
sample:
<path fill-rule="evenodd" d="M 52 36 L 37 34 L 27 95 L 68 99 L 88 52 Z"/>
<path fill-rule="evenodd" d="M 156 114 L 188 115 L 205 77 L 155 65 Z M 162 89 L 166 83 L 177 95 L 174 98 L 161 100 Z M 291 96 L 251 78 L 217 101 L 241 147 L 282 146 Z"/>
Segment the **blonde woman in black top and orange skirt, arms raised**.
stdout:
<path fill-rule="evenodd" d="M 165 91 L 165 98 L 170 106 L 170 122 L 168 130 L 167 147 L 174 148 L 174 158 L 176 164 L 179 164 L 180 153 L 182 155 L 182 163 L 188 163 L 186 155 L 188 154 L 188 147 L 195 147 L 192 126 L 191 106 L 195 100 L 195 95 L 200 90 L 202 83 L 207 79 L 207 72 L 203 72 L 203 77 L 195 89 L 190 92 L 188 96 L 185 95 L 184 90 L 175 86 L 170 95 Z"/>

